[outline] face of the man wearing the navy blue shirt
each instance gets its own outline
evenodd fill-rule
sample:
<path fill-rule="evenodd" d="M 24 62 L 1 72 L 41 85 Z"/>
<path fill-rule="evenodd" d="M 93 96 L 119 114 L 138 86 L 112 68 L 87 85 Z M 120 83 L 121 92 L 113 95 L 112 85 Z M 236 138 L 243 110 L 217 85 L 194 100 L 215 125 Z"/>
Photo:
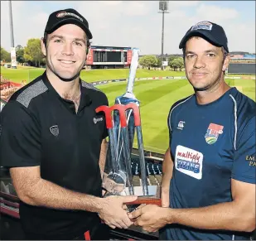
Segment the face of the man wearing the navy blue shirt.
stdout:
<path fill-rule="evenodd" d="M 186 42 L 186 77 L 194 89 L 213 89 L 224 81 L 224 73 L 229 65 L 221 47 L 213 46 L 201 37 L 191 37 Z"/>

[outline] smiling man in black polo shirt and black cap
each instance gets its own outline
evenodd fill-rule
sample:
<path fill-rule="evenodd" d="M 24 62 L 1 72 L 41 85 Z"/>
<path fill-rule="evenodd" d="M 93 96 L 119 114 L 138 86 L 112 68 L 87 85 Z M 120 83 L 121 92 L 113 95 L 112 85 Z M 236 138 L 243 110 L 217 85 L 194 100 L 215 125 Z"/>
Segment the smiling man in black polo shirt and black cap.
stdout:
<path fill-rule="evenodd" d="M 80 80 L 91 38 L 79 12 L 53 12 L 41 41 L 46 72 L 2 109 L 1 166 L 10 167 L 27 239 L 84 239 L 100 219 L 133 224 L 123 204 L 136 197 L 101 195 L 107 131 L 95 108 L 108 99 Z"/>

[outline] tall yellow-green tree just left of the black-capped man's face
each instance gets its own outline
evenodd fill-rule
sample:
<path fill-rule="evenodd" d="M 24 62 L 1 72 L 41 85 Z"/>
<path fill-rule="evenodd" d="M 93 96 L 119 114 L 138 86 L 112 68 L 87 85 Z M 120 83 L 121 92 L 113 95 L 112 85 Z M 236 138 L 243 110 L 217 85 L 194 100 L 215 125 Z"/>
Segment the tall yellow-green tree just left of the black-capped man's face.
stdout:
<path fill-rule="evenodd" d="M 41 52 L 41 40 L 31 38 L 27 41 L 27 46 L 24 48 L 25 61 L 31 61 L 36 66 L 40 66 L 43 62 L 44 55 Z"/>

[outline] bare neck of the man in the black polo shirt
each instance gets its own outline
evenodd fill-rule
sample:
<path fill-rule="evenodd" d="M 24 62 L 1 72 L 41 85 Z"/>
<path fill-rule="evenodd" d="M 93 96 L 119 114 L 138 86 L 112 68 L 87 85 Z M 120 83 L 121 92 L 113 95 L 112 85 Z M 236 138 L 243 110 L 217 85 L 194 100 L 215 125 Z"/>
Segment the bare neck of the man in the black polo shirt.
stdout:
<path fill-rule="evenodd" d="M 77 96 L 80 95 L 80 77 L 70 82 L 65 82 L 60 80 L 49 68 L 46 69 L 46 75 L 52 87 L 56 89 L 56 92 L 62 98 L 73 100 L 77 99 Z"/>

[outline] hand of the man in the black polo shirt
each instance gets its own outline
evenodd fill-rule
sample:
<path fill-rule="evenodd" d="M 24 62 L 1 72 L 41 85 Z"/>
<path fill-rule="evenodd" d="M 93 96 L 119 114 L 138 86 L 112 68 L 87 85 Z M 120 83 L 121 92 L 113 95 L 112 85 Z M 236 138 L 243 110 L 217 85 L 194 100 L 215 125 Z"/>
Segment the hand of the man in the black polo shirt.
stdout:
<path fill-rule="evenodd" d="M 113 195 L 103 199 L 103 205 L 99 211 L 99 218 L 108 224 L 110 228 L 128 229 L 133 222 L 129 219 L 123 205 L 137 200 L 137 196 Z"/>

